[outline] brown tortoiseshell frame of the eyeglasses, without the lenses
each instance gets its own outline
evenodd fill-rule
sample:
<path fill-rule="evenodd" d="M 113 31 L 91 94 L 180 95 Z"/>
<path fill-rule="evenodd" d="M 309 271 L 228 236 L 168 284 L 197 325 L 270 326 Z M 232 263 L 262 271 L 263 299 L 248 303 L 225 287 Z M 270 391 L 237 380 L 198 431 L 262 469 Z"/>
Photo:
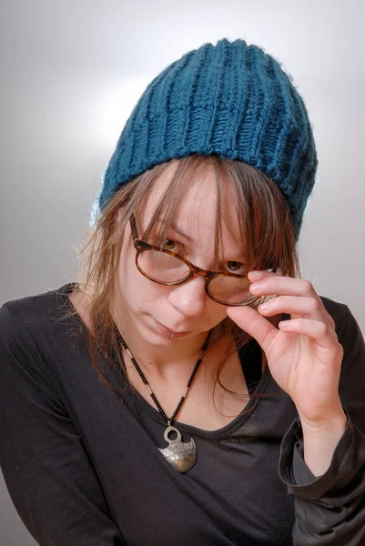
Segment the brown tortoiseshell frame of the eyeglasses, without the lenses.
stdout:
<path fill-rule="evenodd" d="M 209 294 L 209 290 L 208 290 L 209 283 L 213 280 L 213 278 L 231 277 L 231 278 L 243 278 L 245 280 L 248 280 L 248 277 L 246 277 L 245 275 L 235 275 L 235 274 L 231 274 L 231 273 L 218 273 L 218 272 L 215 272 L 215 271 L 208 271 L 207 269 L 198 268 L 198 266 L 194 266 L 191 262 L 189 262 L 187 258 L 184 258 L 183 256 L 180 256 L 179 254 L 176 254 L 175 252 L 171 252 L 171 250 L 166 250 L 165 248 L 158 248 L 158 247 L 156 247 L 154 245 L 149 245 L 148 243 L 145 243 L 145 241 L 142 241 L 138 237 L 136 218 L 135 218 L 134 214 L 132 214 L 132 216 L 129 218 L 129 223 L 130 223 L 130 228 L 131 228 L 131 231 L 132 231 L 133 244 L 134 244 L 134 247 L 136 248 L 136 267 L 137 267 L 138 271 L 140 271 L 140 273 L 142 273 L 142 275 L 144 277 L 149 278 L 150 280 L 153 280 L 154 282 L 157 282 L 158 284 L 162 284 L 162 285 L 166 285 L 166 286 L 177 286 L 177 285 L 183 284 L 184 282 L 187 282 L 187 280 L 189 278 L 192 278 L 195 275 L 201 275 L 202 277 L 205 277 L 205 279 L 206 279 L 205 288 L 206 288 L 207 296 L 210 299 L 213 299 L 213 301 L 216 301 L 217 303 L 220 303 L 221 305 L 225 305 L 227 307 L 242 307 L 242 306 L 245 306 L 245 305 L 252 305 L 253 303 L 255 303 L 255 301 L 257 301 L 259 299 L 259 298 L 253 298 L 253 299 L 248 300 L 247 302 L 243 301 L 241 303 L 227 303 L 225 301 L 220 301 L 218 298 L 214 298 L 214 296 Z M 157 280 L 156 278 L 149 277 L 149 275 L 147 275 L 147 273 L 145 271 L 143 271 L 143 269 L 141 269 L 139 267 L 139 265 L 138 265 L 138 257 L 145 250 L 152 250 L 152 251 L 155 251 L 155 252 L 163 252 L 164 254 L 167 254 L 168 256 L 173 256 L 174 258 L 179 259 L 184 264 L 186 264 L 188 266 L 188 268 L 189 268 L 189 272 L 188 272 L 187 277 L 182 278 L 182 279 L 177 280 L 177 281 L 173 281 L 173 282 Z M 249 282 L 249 280 L 248 280 L 248 282 Z"/>

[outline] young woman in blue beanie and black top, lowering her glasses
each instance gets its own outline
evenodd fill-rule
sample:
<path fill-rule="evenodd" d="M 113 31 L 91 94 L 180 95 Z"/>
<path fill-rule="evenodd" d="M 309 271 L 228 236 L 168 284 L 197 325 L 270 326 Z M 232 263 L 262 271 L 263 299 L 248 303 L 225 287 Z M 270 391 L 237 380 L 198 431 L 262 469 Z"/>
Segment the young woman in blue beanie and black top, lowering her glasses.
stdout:
<path fill-rule="evenodd" d="M 279 63 L 147 86 L 77 283 L 5 304 L 5 481 L 44 546 L 365 544 L 365 346 L 299 276 L 316 151 Z"/>

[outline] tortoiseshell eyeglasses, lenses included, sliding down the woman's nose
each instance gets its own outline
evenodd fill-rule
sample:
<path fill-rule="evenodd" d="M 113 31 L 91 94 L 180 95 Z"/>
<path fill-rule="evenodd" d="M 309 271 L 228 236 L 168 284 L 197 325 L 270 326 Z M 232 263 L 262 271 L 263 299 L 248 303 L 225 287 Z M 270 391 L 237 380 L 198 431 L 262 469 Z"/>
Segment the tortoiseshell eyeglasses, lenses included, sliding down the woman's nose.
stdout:
<path fill-rule="evenodd" d="M 167 286 L 176 286 L 186 282 L 195 275 L 206 278 L 206 292 L 209 298 L 222 305 L 237 307 L 250 305 L 257 299 L 250 294 L 251 284 L 244 275 L 208 271 L 194 266 L 187 258 L 166 250 L 149 245 L 138 238 L 136 218 L 129 219 L 133 244 L 136 248 L 136 266 L 145 277 Z"/>

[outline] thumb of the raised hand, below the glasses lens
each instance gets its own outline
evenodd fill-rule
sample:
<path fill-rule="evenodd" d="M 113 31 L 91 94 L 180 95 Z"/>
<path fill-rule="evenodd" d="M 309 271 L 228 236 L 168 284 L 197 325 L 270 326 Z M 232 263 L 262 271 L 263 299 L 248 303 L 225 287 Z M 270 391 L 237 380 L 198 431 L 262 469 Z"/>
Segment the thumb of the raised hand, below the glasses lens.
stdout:
<path fill-rule="evenodd" d="M 252 338 L 257 340 L 264 352 L 268 349 L 272 339 L 278 334 L 278 329 L 268 319 L 261 317 L 254 308 L 228 307 L 227 314 L 230 319 L 238 324 L 240 329 L 243 329 Z"/>

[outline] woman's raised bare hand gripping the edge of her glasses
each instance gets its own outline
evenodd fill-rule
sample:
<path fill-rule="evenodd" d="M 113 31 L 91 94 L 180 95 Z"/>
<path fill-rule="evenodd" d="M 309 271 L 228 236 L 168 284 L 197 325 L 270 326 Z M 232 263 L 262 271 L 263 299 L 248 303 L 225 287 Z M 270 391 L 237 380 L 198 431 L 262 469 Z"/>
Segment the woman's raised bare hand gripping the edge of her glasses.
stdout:
<path fill-rule="evenodd" d="M 339 395 L 343 349 L 333 319 L 308 280 L 268 271 L 248 273 L 255 296 L 277 298 L 259 306 L 228 308 L 228 317 L 255 338 L 273 379 L 293 399 L 300 420 L 320 426 L 344 416 Z M 265 317 L 290 315 L 279 328 Z"/>

